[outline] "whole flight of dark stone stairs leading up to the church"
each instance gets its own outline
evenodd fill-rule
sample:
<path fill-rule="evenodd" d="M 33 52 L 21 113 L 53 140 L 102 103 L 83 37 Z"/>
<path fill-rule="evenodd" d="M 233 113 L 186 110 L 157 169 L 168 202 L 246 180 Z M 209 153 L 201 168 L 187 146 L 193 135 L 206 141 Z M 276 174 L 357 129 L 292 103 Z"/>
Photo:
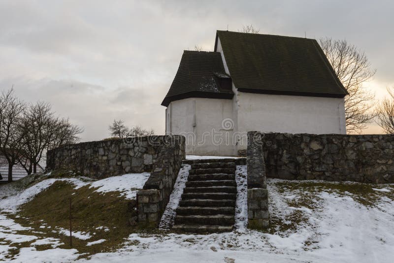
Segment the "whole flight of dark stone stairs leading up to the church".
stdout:
<path fill-rule="evenodd" d="M 188 160 L 188 181 L 176 209 L 174 230 L 193 233 L 231 231 L 234 226 L 235 159 Z"/>

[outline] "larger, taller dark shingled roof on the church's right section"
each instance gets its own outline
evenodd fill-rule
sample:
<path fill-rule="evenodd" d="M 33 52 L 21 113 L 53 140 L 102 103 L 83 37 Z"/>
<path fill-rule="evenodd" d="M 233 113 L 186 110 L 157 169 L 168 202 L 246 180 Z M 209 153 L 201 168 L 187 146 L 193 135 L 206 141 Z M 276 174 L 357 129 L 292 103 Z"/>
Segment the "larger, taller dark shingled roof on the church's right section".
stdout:
<path fill-rule="evenodd" d="M 241 92 L 343 98 L 347 92 L 315 39 L 217 31 Z"/>

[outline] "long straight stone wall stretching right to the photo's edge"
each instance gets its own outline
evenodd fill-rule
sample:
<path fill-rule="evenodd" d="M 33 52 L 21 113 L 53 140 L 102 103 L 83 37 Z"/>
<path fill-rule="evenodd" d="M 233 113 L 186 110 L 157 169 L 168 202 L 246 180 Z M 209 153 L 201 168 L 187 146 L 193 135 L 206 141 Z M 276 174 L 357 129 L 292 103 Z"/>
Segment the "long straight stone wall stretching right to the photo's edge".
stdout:
<path fill-rule="evenodd" d="M 394 135 L 263 135 L 268 177 L 394 183 Z"/>

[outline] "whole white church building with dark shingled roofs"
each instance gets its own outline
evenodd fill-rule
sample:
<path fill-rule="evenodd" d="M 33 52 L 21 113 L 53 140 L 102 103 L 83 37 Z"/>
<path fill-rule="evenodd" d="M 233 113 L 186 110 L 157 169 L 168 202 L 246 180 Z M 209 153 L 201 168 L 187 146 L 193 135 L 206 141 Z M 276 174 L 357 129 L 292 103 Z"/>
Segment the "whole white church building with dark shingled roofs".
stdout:
<path fill-rule="evenodd" d="M 315 39 L 217 31 L 184 51 L 162 105 L 189 155 L 236 156 L 246 132 L 346 133 L 346 89 Z"/>

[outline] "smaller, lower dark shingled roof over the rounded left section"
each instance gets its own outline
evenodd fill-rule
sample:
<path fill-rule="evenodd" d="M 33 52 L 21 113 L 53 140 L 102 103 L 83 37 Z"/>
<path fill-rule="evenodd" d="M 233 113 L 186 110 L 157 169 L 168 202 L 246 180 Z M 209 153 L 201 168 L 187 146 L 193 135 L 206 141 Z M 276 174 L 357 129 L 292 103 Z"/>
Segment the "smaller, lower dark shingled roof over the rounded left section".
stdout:
<path fill-rule="evenodd" d="M 230 89 L 220 86 L 220 78 L 229 78 L 219 52 L 187 51 L 162 105 L 185 98 L 231 99 Z"/>

